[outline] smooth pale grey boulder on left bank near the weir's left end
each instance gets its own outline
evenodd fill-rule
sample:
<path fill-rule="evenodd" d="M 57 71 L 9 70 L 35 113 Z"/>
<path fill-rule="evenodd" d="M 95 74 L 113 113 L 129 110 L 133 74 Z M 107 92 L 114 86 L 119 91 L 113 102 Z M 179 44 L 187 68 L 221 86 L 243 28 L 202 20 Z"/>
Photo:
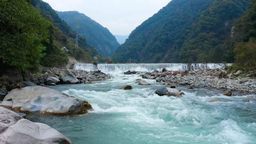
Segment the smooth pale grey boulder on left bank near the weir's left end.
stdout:
<path fill-rule="evenodd" d="M 76 84 L 79 83 L 79 80 L 71 73 L 70 70 L 63 70 L 60 72 L 60 79 L 63 83 Z"/>

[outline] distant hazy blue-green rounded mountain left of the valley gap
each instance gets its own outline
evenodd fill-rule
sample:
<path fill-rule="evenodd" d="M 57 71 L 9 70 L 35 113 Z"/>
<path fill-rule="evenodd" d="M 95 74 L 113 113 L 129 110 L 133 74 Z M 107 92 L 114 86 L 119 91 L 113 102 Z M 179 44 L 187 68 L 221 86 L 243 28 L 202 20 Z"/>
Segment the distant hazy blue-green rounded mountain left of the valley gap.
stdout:
<path fill-rule="evenodd" d="M 103 56 L 110 57 L 119 43 L 110 31 L 83 13 L 76 11 L 57 12 L 61 19 L 83 36 L 89 45 L 93 45 Z"/>

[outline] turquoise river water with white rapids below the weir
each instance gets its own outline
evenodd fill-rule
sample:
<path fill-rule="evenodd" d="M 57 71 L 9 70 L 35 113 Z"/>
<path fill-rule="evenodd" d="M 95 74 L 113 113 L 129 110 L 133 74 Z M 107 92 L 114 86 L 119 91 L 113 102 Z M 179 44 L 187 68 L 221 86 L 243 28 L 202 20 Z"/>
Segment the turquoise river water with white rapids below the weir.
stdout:
<path fill-rule="evenodd" d="M 161 97 L 154 92 L 162 83 L 139 86 L 139 75 L 112 75 L 94 84 L 51 86 L 87 100 L 89 113 L 28 119 L 46 123 L 74 144 L 256 144 L 256 95 L 178 87 L 182 97 Z M 119 90 L 124 85 L 133 89 Z"/>

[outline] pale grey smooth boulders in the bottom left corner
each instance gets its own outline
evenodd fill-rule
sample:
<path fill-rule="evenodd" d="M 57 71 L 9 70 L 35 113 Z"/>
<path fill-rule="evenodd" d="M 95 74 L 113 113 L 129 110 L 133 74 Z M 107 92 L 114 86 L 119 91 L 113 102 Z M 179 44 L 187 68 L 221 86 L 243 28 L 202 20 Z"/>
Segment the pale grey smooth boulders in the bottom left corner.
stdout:
<path fill-rule="evenodd" d="M 0 144 L 72 144 L 60 132 L 43 123 L 23 119 L 0 107 Z"/>

